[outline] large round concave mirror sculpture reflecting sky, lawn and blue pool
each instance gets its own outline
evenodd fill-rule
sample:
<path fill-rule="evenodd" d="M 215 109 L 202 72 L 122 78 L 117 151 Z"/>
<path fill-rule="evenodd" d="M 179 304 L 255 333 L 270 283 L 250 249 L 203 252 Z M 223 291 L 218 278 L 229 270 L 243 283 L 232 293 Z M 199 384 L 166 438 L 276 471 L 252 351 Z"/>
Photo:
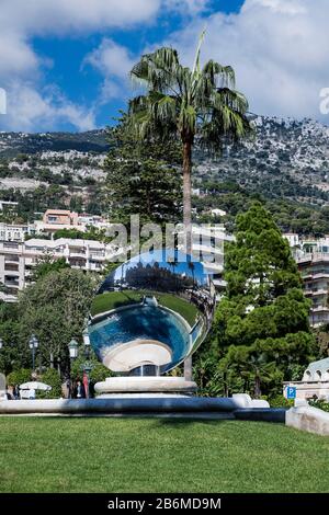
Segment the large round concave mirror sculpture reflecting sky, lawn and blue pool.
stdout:
<path fill-rule="evenodd" d="M 203 264 L 179 251 L 139 254 L 112 272 L 89 321 L 99 358 L 121 375 L 171 370 L 205 339 L 216 293 Z"/>

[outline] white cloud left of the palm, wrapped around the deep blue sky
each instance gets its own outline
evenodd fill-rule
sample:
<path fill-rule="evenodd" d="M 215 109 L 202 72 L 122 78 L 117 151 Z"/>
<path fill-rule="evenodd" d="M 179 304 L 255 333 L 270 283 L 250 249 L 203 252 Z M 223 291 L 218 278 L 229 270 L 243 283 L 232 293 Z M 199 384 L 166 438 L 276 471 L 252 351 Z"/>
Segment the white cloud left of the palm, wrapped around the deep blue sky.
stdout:
<path fill-rule="evenodd" d="M 65 122 L 79 130 L 92 128 L 92 110 L 42 88 L 43 67 L 48 62 L 34 52 L 32 37 L 131 27 L 151 21 L 160 5 L 161 0 L 1 0 L 0 87 L 7 90 L 9 104 L 0 129 L 50 129 Z M 118 72 L 114 50 L 112 67 Z M 104 66 L 111 66 L 110 54 Z M 109 83 L 105 85 L 109 90 Z"/>

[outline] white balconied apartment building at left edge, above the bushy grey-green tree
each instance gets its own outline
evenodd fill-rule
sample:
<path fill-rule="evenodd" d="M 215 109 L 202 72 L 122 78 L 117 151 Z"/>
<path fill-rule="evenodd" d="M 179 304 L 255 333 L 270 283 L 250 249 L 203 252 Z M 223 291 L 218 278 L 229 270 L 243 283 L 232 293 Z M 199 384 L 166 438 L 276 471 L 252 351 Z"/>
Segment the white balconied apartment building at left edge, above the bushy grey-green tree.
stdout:
<path fill-rule="evenodd" d="M 100 273 L 120 252 L 112 244 L 82 239 L 1 241 L 0 284 L 4 289 L 0 291 L 0 299 L 14 302 L 19 290 L 31 283 L 33 267 L 46 254 L 55 260 L 64 258 L 72 268 Z"/>

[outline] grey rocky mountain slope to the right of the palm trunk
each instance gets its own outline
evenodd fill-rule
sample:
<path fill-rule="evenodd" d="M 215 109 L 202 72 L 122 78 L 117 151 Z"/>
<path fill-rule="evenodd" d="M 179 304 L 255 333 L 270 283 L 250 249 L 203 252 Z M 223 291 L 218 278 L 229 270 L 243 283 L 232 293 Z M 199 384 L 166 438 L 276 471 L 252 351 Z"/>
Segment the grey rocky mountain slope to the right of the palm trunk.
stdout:
<path fill-rule="evenodd" d="M 256 137 L 230 146 L 219 159 L 196 154 L 198 185 L 235 181 L 266 198 L 329 202 L 329 127 L 311 119 L 258 116 Z"/>

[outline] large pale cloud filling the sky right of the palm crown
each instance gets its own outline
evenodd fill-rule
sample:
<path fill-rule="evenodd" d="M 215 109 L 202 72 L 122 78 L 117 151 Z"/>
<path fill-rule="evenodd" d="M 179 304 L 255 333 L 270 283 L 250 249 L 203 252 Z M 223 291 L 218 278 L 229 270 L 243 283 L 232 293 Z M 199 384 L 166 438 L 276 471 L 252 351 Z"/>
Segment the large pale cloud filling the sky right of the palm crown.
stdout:
<path fill-rule="evenodd" d="M 203 58 L 234 66 L 253 112 L 319 118 L 319 91 L 329 85 L 328 18 L 327 0 L 246 0 L 237 14 L 207 19 Z M 169 42 L 188 64 L 203 26 L 204 19 L 193 20 Z"/>

